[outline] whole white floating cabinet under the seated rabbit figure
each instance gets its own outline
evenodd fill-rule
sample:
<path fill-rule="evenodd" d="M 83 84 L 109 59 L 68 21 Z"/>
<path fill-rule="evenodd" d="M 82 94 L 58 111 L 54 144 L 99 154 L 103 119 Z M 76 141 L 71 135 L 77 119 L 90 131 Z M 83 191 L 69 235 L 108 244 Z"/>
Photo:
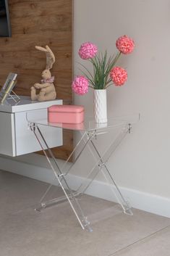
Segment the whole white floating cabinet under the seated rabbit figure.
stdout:
<path fill-rule="evenodd" d="M 56 99 L 48 102 L 33 102 L 30 97 L 22 96 L 21 102 L 0 105 L 0 154 L 19 156 L 41 150 L 35 136 L 28 127 L 27 118 L 30 120 L 47 117 L 47 107 L 62 104 Z M 46 136 L 48 146 L 62 145 L 62 129 L 43 127 L 42 133 Z"/>

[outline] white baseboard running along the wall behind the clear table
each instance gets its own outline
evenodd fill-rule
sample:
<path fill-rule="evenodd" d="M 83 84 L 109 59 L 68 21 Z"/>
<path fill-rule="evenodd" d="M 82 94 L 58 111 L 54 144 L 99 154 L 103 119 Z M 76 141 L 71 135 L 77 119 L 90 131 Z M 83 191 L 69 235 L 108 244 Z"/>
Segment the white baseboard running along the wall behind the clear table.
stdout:
<path fill-rule="evenodd" d="M 47 167 L 39 167 L 12 158 L 0 157 L 0 169 L 34 178 L 39 181 L 56 184 L 54 181 L 54 173 Z M 67 181 L 72 189 L 76 189 L 77 185 L 83 181 L 83 178 L 70 174 Z M 132 207 L 170 218 L 170 198 L 159 197 L 155 194 L 148 194 L 124 187 L 119 187 L 119 189 Z M 90 188 L 86 191 L 86 194 L 116 202 L 116 197 L 111 193 L 111 186 L 101 181 L 93 181 Z"/>

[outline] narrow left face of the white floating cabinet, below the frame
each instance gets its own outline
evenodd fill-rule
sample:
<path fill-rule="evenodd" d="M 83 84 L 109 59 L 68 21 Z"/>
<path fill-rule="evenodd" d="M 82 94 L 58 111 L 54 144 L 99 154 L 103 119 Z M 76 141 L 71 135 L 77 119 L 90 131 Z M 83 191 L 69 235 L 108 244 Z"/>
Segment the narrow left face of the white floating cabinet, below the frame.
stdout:
<path fill-rule="evenodd" d="M 0 112 L 0 154 L 14 157 L 15 136 L 14 136 L 14 114 Z"/>

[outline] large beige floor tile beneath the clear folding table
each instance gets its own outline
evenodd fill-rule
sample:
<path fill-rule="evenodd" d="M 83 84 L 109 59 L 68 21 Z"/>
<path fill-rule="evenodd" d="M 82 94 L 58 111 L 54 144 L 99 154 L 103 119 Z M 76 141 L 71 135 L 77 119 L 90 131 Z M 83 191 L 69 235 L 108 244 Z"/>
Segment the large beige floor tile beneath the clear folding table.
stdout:
<path fill-rule="evenodd" d="M 16 176 L 17 178 L 20 177 Z M 13 176 L 12 179 L 14 182 Z M 30 198 L 40 193 L 38 189 L 41 191 L 44 185 L 37 181 L 33 192 L 30 192 L 29 186 L 32 189 L 31 182 L 34 184 L 35 181 L 24 177 L 21 181 L 19 190 L 16 186 L 9 187 L 11 197 L 8 202 L 17 197 L 17 211 L 10 212 L 7 207 L 7 212 L 2 212 L 0 255 L 3 256 L 108 256 L 170 225 L 168 218 L 140 210 L 134 210 L 134 216 L 124 215 L 115 207 L 111 218 L 93 224 L 92 233 L 82 231 L 68 203 L 38 213 L 32 206 L 25 205 L 25 200 L 20 202 L 20 194 L 23 194 L 23 198 L 31 203 Z M 51 191 L 51 194 L 54 192 Z M 9 194 L 6 198 L 8 196 Z M 5 209 L 5 200 L 2 197 L 0 201 Z M 33 202 L 36 200 L 33 198 Z M 88 209 L 90 215 L 93 215 L 94 210 L 98 212 L 99 209 L 104 210 L 113 205 L 89 196 L 82 197 L 80 203 L 83 208 Z"/>

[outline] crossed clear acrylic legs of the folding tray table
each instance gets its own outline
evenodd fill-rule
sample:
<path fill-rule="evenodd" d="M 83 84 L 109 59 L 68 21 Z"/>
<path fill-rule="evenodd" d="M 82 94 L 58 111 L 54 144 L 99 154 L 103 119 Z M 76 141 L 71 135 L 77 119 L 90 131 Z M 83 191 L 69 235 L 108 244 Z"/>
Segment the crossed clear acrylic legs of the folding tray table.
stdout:
<path fill-rule="evenodd" d="M 122 128 L 122 131 L 116 137 L 116 140 L 114 140 L 111 143 L 111 145 L 109 146 L 109 149 L 107 149 L 106 152 L 102 156 L 98 152 L 98 149 L 93 142 L 93 138 L 95 136 L 99 136 L 100 133 L 103 133 L 103 132 L 102 131 L 91 131 L 91 132 L 82 133 L 81 139 L 80 139 L 80 141 L 78 141 L 72 154 L 75 153 L 76 149 L 79 147 L 79 145 L 81 143 L 83 143 L 82 149 L 77 154 L 75 161 L 72 163 L 72 165 L 69 166 L 68 170 L 66 170 L 67 169 L 66 164 L 67 164 L 69 158 L 72 156 L 72 154 L 69 156 L 69 158 L 65 162 L 64 166 L 62 168 L 59 168 L 59 165 L 54 157 L 54 154 L 53 154 L 53 152 L 51 152 L 51 149 L 48 147 L 46 139 L 44 138 L 43 134 L 41 133 L 41 129 L 39 128 L 39 126 L 36 125 L 35 123 L 29 123 L 29 125 L 30 125 L 30 130 L 33 131 L 35 138 L 37 139 L 38 143 L 40 144 L 41 149 L 43 149 L 43 152 L 46 156 L 46 159 L 48 160 L 48 163 L 49 163 L 51 169 L 54 171 L 54 175 L 56 177 L 56 180 L 59 183 L 59 186 L 61 186 L 61 189 L 64 191 L 64 197 L 60 197 L 58 199 L 52 199 L 48 202 L 42 202 L 44 197 L 46 197 L 46 194 L 48 194 L 48 191 L 52 186 L 52 185 L 50 185 L 48 187 L 46 193 L 43 195 L 43 197 L 41 199 L 41 207 L 39 207 L 36 210 L 41 210 L 42 208 L 48 207 L 49 205 L 54 205 L 56 203 L 62 202 L 65 199 L 67 199 L 69 202 L 69 205 L 72 207 L 72 210 L 75 213 L 75 216 L 76 216 L 77 220 L 79 221 L 82 229 L 92 231 L 92 228 L 90 227 L 88 218 L 85 217 L 85 215 L 82 211 L 82 208 L 80 207 L 80 204 L 77 201 L 76 196 L 79 194 L 85 193 L 85 191 L 88 189 L 88 187 L 93 182 L 95 177 L 101 171 L 101 173 L 103 173 L 103 176 L 106 178 L 106 181 L 108 181 L 109 183 L 112 183 L 112 185 L 113 185 L 112 190 L 114 191 L 114 194 L 116 194 L 116 197 L 117 197 L 119 203 L 122 205 L 124 213 L 132 215 L 132 211 L 130 210 L 129 204 L 126 202 L 126 200 L 122 196 L 121 191 L 119 190 L 118 186 L 116 185 L 116 183 L 114 181 L 114 178 L 111 176 L 111 173 L 109 172 L 109 169 L 106 166 L 106 162 L 109 160 L 109 157 L 111 156 L 111 154 L 114 152 L 116 147 L 119 146 L 122 139 L 124 139 L 124 136 L 126 136 L 126 134 L 130 132 L 131 125 L 125 125 Z M 75 162 L 77 162 L 77 160 L 80 158 L 82 152 L 84 151 L 84 149 L 87 146 L 90 149 L 90 152 L 92 153 L 92 155 L 95 159 L 95 165 L 93 166 L 92 170 L 90 170 L 90 173 L 88 174 L 88 177 L 85 179 L 85 182 L 83 182 L 79 186 L 77 191 L 73 192 L 72 189 L 69 188 L 69 185 L 66 180 L 66 176 L 69 173 L 69 171 L 72 169 L 72 167 L 75 165 Z M 46 154 L 46 149 L 48 151 L 48 154 Z M 49 158 L 48 155 L 51 158 Z"/>

